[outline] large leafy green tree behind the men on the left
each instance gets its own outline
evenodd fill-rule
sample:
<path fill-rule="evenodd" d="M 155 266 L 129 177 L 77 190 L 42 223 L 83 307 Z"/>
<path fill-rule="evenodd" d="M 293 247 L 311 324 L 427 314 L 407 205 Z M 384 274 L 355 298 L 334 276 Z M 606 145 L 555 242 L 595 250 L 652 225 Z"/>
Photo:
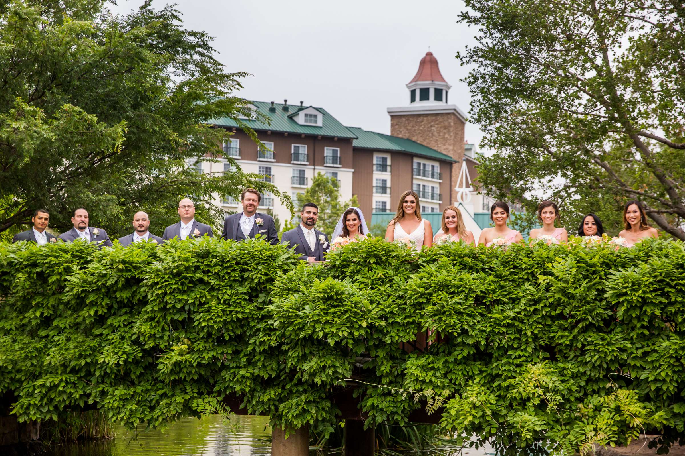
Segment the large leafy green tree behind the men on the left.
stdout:
<path fill-rule="evenodd" d="M 106 3 L 0 4 L 0 236 L 25 229 L 38 208 L 64 231 L 85 207 L 92 226 L 119 237 L 139 210 L 161 234 L 184 197 L 215 225 L 223 211 L 214 193 L 255 187 L 280 196 L 239 167 L 199 174 L 189 166 L 216 161 L 229 135 L 202 122 L 248 113 L 234 96 L 247 73 L 225 72 L 212 38 L 184 29 L 171 6 L 145 2 L 113 16 Z"/>

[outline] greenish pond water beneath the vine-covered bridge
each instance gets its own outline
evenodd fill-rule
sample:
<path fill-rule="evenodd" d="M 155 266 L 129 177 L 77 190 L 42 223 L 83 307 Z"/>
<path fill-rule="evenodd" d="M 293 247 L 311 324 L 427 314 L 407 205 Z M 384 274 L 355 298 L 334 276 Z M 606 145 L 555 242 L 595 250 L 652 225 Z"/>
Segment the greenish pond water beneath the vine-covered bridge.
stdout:
<path fill-rule="evenodd" d="M 55 446 L 47 456 L 266 456 L 271 455 L 271 428 L 266 416 L 184 418 L 164 431 L 134 432 L 115 427 L 116 437 L 98 442 Z M 416 451 L 392 451 L 393 456 L 417 456 Z M 339 449 L 314 449 L 317 456 L 341 455 Z M 485 456 L 488 451 L 436 448 L 431 455 Z"/>

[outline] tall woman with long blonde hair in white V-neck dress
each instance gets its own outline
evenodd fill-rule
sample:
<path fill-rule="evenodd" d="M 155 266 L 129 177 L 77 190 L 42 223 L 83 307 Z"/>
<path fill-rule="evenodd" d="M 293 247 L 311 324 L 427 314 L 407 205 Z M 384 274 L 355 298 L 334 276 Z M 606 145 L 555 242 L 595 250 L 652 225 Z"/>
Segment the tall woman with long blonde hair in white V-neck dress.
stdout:
<path fill-rule="evenodd" d="M 388 224 L 386 239 L 390 242 L 408 239 L 414 243 L 416 250 L 432 244 L 433 228 L 430 222 L 421 219 L 419 196 L 415 191 L 407 190 L 402 193 L 397 205 L 397 215 Z"/>

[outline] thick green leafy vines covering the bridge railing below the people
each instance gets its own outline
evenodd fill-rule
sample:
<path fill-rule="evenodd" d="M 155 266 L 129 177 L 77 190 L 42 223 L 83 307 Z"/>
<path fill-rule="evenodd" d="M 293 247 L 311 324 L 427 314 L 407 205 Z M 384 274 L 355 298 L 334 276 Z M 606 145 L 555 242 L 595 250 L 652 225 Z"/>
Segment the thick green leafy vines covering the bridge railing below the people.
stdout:
<path fill-rule="evenodd" d="M 668 445 L 685 435 L 684 271 L 673 241 L 416 254 L 369 239 L 316 267 L 263 241 L 1 244 L 0 392 L 22 419 L 98 407 L 151 427 L 242 396 L 326 433 L 332 392 L 356 385 L 369 425 L 427 402 L 512 455 Z M 426 329 L 425 353 L 400 348 Z"/>

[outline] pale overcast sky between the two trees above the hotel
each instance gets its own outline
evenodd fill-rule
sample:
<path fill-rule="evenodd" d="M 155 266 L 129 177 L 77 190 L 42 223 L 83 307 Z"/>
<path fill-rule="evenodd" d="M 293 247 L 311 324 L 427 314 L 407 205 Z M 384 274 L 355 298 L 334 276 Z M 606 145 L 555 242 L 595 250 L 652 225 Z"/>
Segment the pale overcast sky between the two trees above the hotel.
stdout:
<path fill-rule="evenodd" d="M 142 0 L 118 0 L 112 12 Z M 450 103 L 469 111 L 468 72 L 455 58 L 474 30 L 458 24 L 461 0 L 177 0 L 184 25 L 213 36 L 228 72 L 251 73 L 239 95 L 249 100 L 323 107 L 347 126 L 390 133 L 387 107 L 409 103 L 406 88 L 430 46 L 452 85 Z M 478 126 L 466 140 L 479 144 Z"/>

